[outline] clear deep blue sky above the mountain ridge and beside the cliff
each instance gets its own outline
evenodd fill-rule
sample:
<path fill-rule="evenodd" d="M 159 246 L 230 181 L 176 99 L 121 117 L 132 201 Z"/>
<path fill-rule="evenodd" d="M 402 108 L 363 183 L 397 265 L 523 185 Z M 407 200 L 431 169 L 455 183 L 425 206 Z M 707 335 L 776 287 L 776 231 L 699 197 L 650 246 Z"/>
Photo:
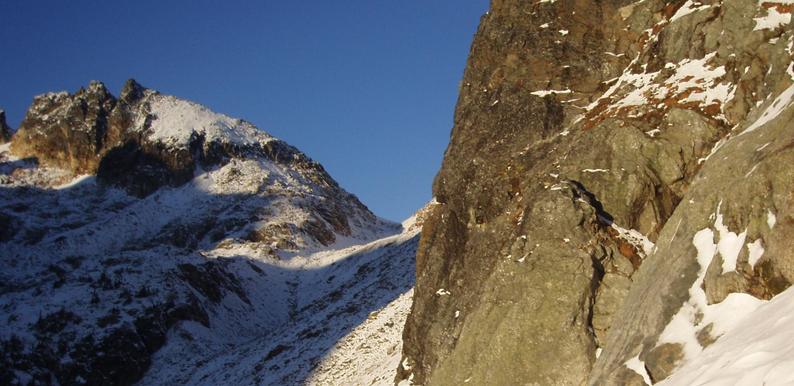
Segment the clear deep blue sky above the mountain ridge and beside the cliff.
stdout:
<path fill-rule="evenodd" d="M 0 1 L 0 108 L 127 78 L 253 122 L 376 214 L 430 199 L 487 0 Z"/>

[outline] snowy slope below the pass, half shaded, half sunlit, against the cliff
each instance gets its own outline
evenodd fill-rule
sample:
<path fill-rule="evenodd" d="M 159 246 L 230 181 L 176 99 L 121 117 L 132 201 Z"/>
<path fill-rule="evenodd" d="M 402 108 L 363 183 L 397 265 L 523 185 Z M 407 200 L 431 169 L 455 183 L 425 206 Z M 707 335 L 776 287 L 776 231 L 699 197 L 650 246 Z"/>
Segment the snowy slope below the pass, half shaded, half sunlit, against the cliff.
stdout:
<path fill-rule="evenodd" d="M 392 384 L 418 239 L 417 229 L 294 258 L 289 323 L 216 350 L 170 340 L 141 383 Z"/>

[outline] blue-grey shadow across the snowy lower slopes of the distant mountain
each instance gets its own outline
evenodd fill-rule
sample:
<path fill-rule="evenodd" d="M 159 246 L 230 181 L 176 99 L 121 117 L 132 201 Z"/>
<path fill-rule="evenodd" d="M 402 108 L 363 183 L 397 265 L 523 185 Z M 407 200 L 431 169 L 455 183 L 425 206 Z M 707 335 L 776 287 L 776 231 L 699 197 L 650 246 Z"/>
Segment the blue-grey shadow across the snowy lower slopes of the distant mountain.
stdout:
<path fill-rule="evenodd" d="M 418 235 L 313 268 L 203 253 L 239 242 L 269 203 L 184 185 L 141 199 L 93 180 L 0 187 L 0 341 L 18 349 L 0 378 L 303 383 L 413 286 Z"/>

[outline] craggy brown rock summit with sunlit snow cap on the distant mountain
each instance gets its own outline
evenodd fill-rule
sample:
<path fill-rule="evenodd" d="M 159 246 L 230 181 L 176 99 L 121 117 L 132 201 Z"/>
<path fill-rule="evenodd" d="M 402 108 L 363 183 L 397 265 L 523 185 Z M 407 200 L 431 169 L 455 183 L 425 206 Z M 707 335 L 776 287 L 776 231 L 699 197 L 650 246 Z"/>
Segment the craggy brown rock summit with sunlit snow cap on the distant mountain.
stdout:
<path fill-rule="evenodd" d="M 198 165 L 246 154 L 315 168 L 321 179 L 332 181 L 297 149 L 254 125 L 160 94 L 134 79 L 124 84 L 119 99 L 97 81 L 74 94 L 40 95 L 18 133 L 11 145 L 17 156 L 75 174 L 97 174 L 100 181 L 122 184 L 140 196 L 187 182 Z"/>

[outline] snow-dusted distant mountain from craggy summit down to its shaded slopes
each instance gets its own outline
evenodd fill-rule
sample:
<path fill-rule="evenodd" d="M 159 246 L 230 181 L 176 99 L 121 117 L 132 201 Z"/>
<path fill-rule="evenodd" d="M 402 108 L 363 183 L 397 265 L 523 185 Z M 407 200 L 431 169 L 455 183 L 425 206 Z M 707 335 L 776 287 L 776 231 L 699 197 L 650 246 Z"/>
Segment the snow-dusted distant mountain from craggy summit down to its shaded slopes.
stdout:
<path fill-rule="evenodd" d="M 37 97 L 0 147 L 0 379 L 200 382 L 196 363 L 263 341 L 293 367 L 240 371 L 304 379 L 412 286 L 418 230 L 400 229 L 198 104 L 134 82 Z"/>

